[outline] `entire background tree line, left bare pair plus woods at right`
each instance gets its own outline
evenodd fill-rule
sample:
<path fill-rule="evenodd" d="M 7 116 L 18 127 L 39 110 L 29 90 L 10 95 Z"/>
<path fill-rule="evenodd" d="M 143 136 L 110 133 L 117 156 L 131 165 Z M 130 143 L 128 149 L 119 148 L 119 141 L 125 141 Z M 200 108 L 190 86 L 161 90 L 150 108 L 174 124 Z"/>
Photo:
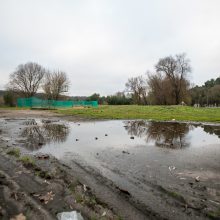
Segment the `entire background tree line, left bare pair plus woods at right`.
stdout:
<path fill-rule="evenodd" d="M 114 95 L 94 93 L 84 100 L 109 105 L 220 105 L 220 77 L 203 86 L 192 86 L 189 81 L 190 60 L 185 53 L 160 58 L 153 72 L 128 78 L 125 88 Z M 46 99 L 63 99 L 70 81 L 63 71 L 50 71 L 33 62 L 19 65 L 10 74 L 5 103 L 13 105 L 19 97 L 37 95 L 39 89 Z M 68 97 L 68 99 L 73 99 Z"/>

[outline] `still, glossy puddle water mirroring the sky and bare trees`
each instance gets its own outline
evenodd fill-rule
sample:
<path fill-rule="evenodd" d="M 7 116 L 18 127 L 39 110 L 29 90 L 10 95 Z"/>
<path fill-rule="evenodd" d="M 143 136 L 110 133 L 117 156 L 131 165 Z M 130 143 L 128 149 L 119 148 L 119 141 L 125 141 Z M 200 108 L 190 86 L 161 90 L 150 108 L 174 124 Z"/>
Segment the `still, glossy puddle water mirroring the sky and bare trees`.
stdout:
<path fill-rule="evenodd" d="M 106 174 L 163 167 L 220 168 L 220 126 L 153 121 L 31 122 L 26 149 L 78 161 Z M 149 171 L 150 169 L 148 169 Z M 142 173 L 143 172 L 143 173 Z"/>

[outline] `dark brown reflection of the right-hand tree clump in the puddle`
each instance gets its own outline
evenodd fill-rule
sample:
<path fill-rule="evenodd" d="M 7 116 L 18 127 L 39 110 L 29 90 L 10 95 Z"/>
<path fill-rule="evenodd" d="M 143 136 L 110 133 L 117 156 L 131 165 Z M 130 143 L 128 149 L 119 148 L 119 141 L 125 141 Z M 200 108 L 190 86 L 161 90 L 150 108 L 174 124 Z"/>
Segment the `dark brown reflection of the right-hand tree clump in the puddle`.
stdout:
<path fill-rule="evenodd" d="M 189 146 L 186 135 L 191 126 L 176 122 L 125 121 L 128 134 L 155 141 L 158 147 L 182 148 Z"/>

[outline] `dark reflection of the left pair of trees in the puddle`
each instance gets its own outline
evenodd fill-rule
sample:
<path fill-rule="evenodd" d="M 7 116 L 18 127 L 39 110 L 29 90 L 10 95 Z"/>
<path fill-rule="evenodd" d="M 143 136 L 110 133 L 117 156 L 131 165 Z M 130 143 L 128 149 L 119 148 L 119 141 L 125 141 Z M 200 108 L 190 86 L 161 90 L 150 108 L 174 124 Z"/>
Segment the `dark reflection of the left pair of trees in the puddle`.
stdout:
<path fill-rule="evenodd" d="M 69 134 L 69 127 L 64 124 L 44 123 L 26 127 L 21 136 L 26 138 L 26 147 L 30 150 L 39 149 L 50 142 L 64 142 Z"/>

